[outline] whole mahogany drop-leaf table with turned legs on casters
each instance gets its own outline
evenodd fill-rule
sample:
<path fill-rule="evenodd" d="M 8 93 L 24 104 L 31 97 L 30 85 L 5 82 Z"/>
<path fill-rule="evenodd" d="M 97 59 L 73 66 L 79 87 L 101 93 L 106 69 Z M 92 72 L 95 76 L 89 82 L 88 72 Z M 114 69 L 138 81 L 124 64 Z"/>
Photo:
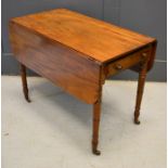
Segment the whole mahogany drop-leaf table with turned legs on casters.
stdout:
<path fill-rule="evenodd" d="M 26 67 L 93 104 L 92 152 L 98 150 L 102 86 L 124 69 L 139 73 L 134 124 L 140 124 L 140 105 L 146 73 L 152 68 L 156 39 L 66 9 L 12 18 L 10 40 L 28 98 Z"/>

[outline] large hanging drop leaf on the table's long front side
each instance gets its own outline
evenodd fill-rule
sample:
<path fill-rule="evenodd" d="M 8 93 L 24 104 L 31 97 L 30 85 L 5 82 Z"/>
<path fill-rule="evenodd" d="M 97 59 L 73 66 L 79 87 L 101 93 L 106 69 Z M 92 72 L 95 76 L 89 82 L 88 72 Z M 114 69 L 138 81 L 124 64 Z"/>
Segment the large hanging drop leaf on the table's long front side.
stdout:
<path fill-rule="evenodd" d="M 100 93 L 100 65 L 59 42 L 11 23 L 10 37 L 16 59 L 68 93 L 94 103 Z"/>

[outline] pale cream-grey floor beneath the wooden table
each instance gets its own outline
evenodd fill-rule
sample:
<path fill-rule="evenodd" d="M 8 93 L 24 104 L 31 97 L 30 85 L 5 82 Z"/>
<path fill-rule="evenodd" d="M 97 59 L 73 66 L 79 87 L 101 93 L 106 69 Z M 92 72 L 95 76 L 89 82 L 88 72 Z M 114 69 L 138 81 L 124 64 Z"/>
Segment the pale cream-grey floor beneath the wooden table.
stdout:
<path fill-rule="evenodd" d="M 132 122 L 135 81 L 106 81 L 101 156 L 91 153 L 92 106 L 47 79 L 2 77 L 2 168 L 166 168 L 166 83 L 146 82 L 141 125 Z"/>

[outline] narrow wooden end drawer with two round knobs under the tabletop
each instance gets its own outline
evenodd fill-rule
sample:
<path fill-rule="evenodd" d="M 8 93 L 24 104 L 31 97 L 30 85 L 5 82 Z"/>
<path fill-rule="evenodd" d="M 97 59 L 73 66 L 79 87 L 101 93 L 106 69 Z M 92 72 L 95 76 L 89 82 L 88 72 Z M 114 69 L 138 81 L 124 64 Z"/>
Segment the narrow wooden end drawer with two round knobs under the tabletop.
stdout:
<path fill-rule="evenodd" d="M 108 77 L 111 75 L 115 75 L 124 69 L 130 68 L 144 59 L 150 56 L 150 48 L 141 49 L 137 52 L 133 52 L 127 56 L 113 61 L 105 65 L 105 76 Z"/>

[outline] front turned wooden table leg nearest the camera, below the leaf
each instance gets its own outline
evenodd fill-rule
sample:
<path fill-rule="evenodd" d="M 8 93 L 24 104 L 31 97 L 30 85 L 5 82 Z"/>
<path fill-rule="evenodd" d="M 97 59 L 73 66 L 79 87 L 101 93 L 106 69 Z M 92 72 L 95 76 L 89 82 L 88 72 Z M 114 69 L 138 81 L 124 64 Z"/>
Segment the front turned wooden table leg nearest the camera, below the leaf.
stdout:
<path fill-rule="evenodd" d="M 101 152 L 98 150 L 100 117 L 101 117 L 101 98 L 93 104 L 92 152 L 95 155 L 101 154 Z"/>

